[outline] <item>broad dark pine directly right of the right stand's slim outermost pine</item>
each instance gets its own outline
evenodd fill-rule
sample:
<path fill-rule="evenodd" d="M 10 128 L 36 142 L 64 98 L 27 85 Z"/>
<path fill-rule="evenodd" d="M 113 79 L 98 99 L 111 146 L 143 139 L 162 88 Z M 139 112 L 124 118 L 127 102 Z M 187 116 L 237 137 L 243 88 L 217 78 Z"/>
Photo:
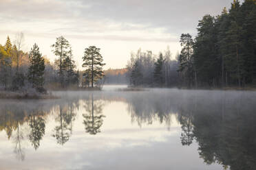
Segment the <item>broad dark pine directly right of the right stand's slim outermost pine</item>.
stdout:
<path fill-rule="evenodd" d="M 205 15 L 198 24 L 198 36 L 193 46 L 193 69 L 198 82 L 204 86 L 217 86 L 220 80 L 221 62 L 217 53 L 217 29 L 215 17 Z"/>

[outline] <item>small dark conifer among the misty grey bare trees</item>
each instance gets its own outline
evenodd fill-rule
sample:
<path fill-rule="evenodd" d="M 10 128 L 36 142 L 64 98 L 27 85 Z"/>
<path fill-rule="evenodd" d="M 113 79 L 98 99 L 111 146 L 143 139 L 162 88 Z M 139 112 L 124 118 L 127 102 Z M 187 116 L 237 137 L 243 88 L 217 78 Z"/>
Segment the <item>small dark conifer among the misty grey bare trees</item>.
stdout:
<path fill-rule="evenodd" d="M 158 60 L 155 62 L 155 70 L 153 73 L 155 83 L 160 86 L 164 84 L 164 77 L 162 73 L 163 65 L 164 65 L 164 58 L 162 57 L 162 53 L 160 53 Z"/>

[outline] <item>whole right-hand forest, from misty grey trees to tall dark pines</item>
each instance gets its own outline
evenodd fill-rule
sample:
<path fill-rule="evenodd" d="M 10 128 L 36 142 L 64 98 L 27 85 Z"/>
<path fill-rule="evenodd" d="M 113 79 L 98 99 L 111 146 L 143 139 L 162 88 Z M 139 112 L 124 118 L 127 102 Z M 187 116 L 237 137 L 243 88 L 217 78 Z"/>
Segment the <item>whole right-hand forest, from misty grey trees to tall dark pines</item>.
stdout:
<path fill-rule="evenodd" d="M 248 87 L 256 84 L 256 3 L 234 0 L 222 14 L 206 14 L 198 34 L 180 36 L 182 50 L 131 54 L 127 64 L 132 86 L 180 88 Z"/>

